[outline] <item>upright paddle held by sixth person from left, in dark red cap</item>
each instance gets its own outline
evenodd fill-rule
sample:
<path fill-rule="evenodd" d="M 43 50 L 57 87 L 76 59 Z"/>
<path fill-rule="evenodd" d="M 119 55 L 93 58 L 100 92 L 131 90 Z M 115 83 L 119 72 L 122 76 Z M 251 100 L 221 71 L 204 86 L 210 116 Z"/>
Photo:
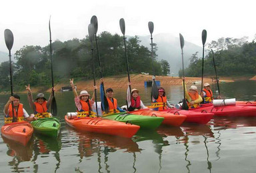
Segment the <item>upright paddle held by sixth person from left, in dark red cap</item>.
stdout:
<path fill-rule="evenodd" d="M 151 59 L 152 59 L 152 72 L 153 72 L 153 81 L 152 81 L 152 88 L 151 88 L 151 101 L 153 102 L 153 98 L 157 99 L 158 96 L 159 96 L 158 87 L 157 87 L 157 84 L 155 83 L 155 69 L 154 69 L 154 57 L 153 57 L 153 37 L 152 37 L 152 33 L 154 31 L 154 23 L 149 21 L 148 26 L 149 26 L 149 32 L 150 32 L 150 35 L 151 35 Z"/>

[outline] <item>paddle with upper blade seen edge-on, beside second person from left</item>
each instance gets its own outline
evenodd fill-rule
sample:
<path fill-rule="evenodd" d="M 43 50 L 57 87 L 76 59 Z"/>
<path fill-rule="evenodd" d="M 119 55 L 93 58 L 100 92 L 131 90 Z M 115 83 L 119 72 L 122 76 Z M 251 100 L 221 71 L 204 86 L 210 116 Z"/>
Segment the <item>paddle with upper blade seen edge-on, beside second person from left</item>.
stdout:
<path fill-rule="evenodd" d="M 53 83 L 53 51 L 51 49 L 51 17 L 49 19 L 49 32 L 50 32 L 50 58 L 51 58 L 51 86 L 54 86 Z M 54 90 L 52 90 L 53 92 L 53 100 L 51 101 L 51 113 L 53 114 L 53 116 L 57 115 L 57 103 L 56 103 L 56 99 L 55 99 L 55 94 L 54 94 Z"/>

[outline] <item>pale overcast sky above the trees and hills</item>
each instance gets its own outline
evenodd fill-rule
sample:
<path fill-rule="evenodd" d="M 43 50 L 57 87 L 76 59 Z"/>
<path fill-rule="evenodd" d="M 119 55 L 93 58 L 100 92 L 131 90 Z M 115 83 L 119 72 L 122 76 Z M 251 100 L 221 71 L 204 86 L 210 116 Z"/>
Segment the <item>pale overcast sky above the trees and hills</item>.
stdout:
<path fill-rule="evenodd" d="M 118 33 L 119 19 L 125 19 L 126 35 L 149 35 L 147 23 L 153 21 L 157 33 L 171 33 L 201 46 L 201 31 L 207 30 L 207 42 L 220 37 L 253 40 L 256 34 L 253 0 L 8 0 L 1 1 L 0 51 L 7 52 L 4 30 L 14 35 L 12 53 L 23 45 L 49 44 L 49 17 L 52 39 L 83 39 L 88 25 L 97 16 L 99 29 Z"/>

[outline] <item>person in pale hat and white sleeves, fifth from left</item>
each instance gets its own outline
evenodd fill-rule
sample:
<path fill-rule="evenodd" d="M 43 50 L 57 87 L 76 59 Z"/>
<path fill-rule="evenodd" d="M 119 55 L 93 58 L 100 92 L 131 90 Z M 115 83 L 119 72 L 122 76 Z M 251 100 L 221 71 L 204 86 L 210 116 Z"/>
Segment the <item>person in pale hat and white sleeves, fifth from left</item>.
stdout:
<path fill-rule="evenodd" d="M 128 83 L 128 88 L 127 88 L 127 106 L 128 106 L 128 111 L 133 111 L 133 110 L 139 110 L 143 108 L 147 108 L 141 100 L 141 97 L 139 96 L 139 90 L 136 88 L 133 88 L 130 90 L 131 83 Z"/>

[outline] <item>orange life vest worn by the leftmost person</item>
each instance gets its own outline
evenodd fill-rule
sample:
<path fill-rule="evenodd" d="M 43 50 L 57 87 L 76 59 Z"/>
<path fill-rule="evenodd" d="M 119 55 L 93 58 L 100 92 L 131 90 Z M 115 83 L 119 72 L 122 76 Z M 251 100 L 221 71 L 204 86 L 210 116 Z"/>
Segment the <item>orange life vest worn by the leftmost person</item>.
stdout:
<path fill-rule="evenodd" d="M 24 112 L 23 112 L 23 104 L 18 105 L 18 110 L 16 111 L 15 108 L 11 104 L 9 104 L 9 113 L 7 116 L 5 116 L 5 124 L 13 122 L 13 116 L 17 118 L 15 122 L 21 122 L 24 121 Z M 14 115 L 13 115 L 14 113 Z"/>

